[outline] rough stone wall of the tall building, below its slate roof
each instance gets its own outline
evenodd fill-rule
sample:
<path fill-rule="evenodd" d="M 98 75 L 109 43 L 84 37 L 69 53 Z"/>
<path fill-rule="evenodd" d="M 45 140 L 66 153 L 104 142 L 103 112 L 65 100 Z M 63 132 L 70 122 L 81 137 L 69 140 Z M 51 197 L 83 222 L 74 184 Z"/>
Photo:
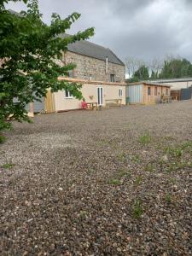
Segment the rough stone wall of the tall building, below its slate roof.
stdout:
<path fill-rule="evenodd" d="M 110 82 L 110 74 L 115 75 L 115 82 L 125 82 L 125 67 L 108 62 L 108 73 L 106 73 L 106 62 L 92 57 L 79 55 L 67 51 L 63 55 L 65 64 L 74 63 L 77 67 L 73 70 L 74 79 L 87 79 Z"/>

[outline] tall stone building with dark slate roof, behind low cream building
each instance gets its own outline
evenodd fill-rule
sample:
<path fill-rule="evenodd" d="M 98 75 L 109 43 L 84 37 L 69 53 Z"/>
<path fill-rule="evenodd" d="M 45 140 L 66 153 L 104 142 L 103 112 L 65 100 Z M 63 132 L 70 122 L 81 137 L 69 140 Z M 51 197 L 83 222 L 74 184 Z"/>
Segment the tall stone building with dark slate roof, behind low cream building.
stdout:
<path fill-rule="evenodd" d="M 98 44 L 88 41 L 69 44 L 62 61 L 77 65 L 70 74 L 74 79 L 125 82 L 125 64 L 110 49 Z"/>

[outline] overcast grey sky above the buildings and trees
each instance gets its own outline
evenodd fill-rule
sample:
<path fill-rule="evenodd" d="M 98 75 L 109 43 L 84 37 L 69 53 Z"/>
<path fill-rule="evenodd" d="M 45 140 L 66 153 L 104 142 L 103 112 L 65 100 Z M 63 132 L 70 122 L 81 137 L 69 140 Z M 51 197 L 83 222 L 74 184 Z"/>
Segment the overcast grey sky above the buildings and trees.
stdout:
<path fill-rule="evenodd" d="M 9 9 L 25 5 L 9 3 Z M 113 49 L 122 61 L 130 55 L 150 61 L 167 54 L 192 61 L 192 0 L 39 0 L 39 9 L 48 24 L 54 12 L 61 18 L 79 12 L 68 32 L 94 26 L 90 41 Z"/>

